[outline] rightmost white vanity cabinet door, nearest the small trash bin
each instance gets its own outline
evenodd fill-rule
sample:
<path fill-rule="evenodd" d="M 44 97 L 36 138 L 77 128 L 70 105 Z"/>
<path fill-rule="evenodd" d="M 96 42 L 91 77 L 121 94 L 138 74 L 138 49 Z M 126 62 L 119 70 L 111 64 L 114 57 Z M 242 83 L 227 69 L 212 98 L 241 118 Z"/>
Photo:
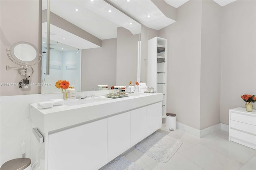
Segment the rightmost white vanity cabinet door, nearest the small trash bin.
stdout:
<path fill-rule="evenodd" d="M 146 119 L 146 135 L 162 127 L 162 102 L 148 105 Z"/>

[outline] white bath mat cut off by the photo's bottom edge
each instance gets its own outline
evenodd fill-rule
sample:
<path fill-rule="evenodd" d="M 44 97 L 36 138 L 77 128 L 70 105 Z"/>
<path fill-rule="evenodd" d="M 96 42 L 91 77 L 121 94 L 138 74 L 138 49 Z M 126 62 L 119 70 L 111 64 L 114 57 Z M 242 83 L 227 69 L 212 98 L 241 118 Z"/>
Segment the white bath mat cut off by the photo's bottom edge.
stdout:
<path fill-rule="evenodd" d="M 142 170 L 140 166 L 131 162 L 124 156 L 118 156 L 115 160 L 112 160 L 100 170 Z"/>

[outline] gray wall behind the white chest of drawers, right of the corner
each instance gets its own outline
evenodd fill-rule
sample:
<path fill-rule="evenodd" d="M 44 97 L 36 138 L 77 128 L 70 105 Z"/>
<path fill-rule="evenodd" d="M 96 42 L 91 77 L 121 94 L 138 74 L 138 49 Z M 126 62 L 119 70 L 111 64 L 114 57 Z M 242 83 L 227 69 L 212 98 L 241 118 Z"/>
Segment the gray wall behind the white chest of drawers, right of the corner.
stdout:
<path fill-rule="evenodd" d="M 245 107 L 240 96 L 256 94 L 256 1 L 237 0 L 221 14 L 220 122 L 228 124 L 228 110 Z"/>

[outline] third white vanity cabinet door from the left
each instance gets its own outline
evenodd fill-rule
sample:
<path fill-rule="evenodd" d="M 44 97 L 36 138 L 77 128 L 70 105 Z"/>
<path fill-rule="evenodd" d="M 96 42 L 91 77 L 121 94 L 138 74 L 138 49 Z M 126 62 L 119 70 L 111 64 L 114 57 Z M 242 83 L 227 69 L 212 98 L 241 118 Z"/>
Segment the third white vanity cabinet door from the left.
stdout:
<path fill-rule="evenodd" d="M 146 137 L 146 107 L 131 111 L 131 144 L 134 146 Z"/>

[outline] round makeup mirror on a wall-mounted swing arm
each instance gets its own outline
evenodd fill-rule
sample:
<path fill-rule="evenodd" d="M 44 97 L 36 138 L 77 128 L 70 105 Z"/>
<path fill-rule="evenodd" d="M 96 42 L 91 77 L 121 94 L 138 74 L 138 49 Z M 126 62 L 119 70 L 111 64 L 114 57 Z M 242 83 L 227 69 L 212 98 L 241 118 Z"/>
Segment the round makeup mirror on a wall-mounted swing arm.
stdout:
<path fill-rule="evenodd" d="M 28 42 L 16 42 L 10 48 L 12 58 L 17 61 L 18 65 L 34 65 L 40 60 L 38 49 Z"/>

